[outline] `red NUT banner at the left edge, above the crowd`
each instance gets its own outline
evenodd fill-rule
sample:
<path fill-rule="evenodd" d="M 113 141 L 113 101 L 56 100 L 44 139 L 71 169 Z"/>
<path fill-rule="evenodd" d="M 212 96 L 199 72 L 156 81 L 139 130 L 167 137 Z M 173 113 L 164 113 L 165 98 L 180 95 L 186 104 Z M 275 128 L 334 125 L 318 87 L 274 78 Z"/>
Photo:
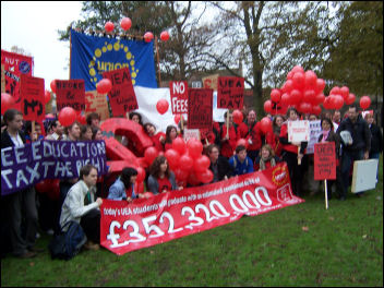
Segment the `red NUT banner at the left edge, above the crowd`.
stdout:
<path fill-rule="evenodd" d="M 4 65 L 5 93 L 15 100 L 15 107 L 21 110 L 22 99 L 20 96 L 20 76 L 22 74 L 32 76 L 33 58 L 19 53 L 1 50 L 1 64 Z"/>

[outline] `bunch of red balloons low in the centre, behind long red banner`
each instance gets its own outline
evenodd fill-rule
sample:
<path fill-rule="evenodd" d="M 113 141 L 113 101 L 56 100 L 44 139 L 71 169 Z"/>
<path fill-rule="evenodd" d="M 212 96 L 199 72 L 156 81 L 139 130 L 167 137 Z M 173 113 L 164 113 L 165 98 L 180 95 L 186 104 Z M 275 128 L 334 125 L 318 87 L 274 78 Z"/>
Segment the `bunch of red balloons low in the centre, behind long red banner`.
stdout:
<path fill-rule="evenodd" d="M 175 139 L 172 147 L 164 153 L 179 185 L 185 187 L 187 183 L 197 185 L 201 182 L 212 182 L 214 175 L 208 169 L 211 160 L 202 153 L 203 144 L 199 140 L 191 139 L 185 143 L 181 137 Z M 159 155 L 161 154 L 155 147 L 148 147 L 144 152 L 144 159 L 148 165 L 152 165 Z"/>

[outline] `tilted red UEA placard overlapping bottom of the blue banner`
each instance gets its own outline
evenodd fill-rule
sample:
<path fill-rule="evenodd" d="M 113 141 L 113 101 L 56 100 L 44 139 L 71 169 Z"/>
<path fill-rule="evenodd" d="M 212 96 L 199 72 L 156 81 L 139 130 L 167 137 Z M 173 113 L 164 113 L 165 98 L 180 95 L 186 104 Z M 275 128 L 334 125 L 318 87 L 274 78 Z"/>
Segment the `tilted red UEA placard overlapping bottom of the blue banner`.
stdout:
<path fill-rule="evenodd" d="M 125 116 L 139 108 L 129 68 L 104 72 L 103 77 L 112 82 L 108 97 L 113 117 Z"/>

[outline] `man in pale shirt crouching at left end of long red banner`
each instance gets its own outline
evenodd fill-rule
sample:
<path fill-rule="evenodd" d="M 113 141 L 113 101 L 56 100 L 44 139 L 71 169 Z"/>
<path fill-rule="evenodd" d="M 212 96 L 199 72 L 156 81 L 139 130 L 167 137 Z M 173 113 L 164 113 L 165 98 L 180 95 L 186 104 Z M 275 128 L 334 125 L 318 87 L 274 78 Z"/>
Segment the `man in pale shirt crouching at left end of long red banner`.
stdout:
<path fill-rule="evenodd" d="M 80 223 L 88 241 L 85 249 L 97 250 L 100 242 L 100 197 L 95 201 L 97 169 L 87 164 L 80 169 L 79 181 L 68 192 L 61 207 L 60 226 L 65 231 L 65 224 Z"/>

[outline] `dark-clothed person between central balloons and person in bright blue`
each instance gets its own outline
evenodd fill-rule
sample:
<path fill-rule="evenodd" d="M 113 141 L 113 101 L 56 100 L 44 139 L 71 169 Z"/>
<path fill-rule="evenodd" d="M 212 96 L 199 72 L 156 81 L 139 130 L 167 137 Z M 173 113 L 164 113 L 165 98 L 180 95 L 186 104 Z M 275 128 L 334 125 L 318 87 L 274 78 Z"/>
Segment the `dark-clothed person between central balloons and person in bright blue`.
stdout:
<path fill-rule="evenodd" d="M 218 146 L 211 144 L 207 148 L 207 154 L 211 160 L 209 170 L 214 173 L 212 183 L 228 180 L 232 176 L 233 169 L 229 165 L 228 159 L 219 155 Z"/>

